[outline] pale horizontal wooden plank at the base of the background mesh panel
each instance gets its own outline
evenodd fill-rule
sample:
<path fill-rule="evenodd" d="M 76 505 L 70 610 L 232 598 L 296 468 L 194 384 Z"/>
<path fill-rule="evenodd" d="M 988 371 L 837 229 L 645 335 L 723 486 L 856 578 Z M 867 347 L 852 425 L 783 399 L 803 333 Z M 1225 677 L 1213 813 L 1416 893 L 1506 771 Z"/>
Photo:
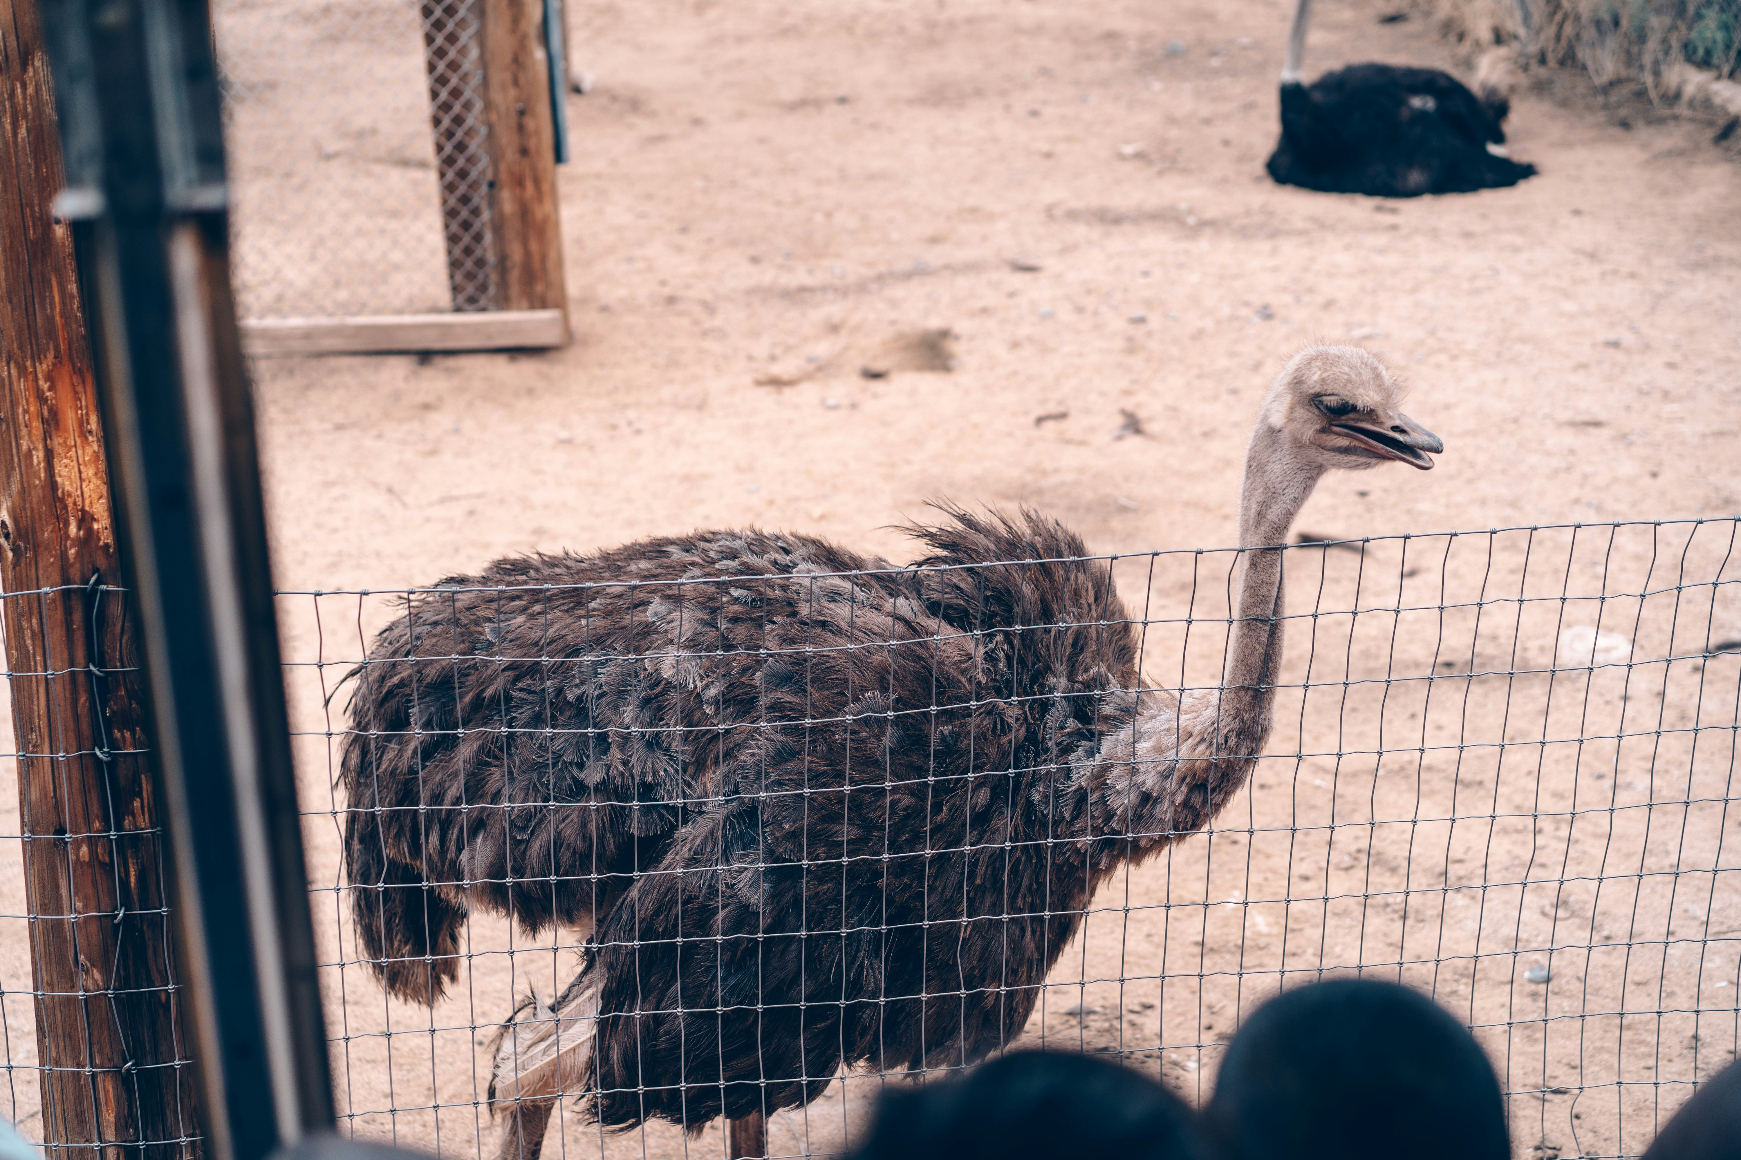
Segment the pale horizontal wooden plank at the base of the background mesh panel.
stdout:
<path fill-rule="evenodd" d="M 561 310 L 242 320 L 249 355 L 378 355 L 562 346 Z"/>

